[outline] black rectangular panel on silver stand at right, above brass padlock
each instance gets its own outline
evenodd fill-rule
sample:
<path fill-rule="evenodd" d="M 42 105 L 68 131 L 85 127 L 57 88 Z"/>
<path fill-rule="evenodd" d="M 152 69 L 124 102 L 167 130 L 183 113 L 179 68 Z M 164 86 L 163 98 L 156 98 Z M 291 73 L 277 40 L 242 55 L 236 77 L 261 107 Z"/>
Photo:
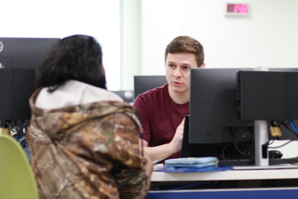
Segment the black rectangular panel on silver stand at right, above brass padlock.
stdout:
<path fill-rule="evenodd" d="M 237 72 L 238 119 L 298 119 L 298 72 Z"/>

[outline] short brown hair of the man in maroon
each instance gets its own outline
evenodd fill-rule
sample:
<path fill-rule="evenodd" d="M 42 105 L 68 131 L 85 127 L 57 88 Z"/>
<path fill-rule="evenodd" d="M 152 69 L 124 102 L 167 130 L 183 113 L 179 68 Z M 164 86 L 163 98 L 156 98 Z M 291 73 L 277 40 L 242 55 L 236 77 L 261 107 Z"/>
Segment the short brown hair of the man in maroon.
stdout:
<path fill-rule="evenodd" d="M 195 53 L 198 67 L 200 67 L 204 62 L 203 45 L 190 36 L 178 36 L 167 45 L 165 49 L 165 62 L 167 60 L 168 53 L 181 52 Z"/>

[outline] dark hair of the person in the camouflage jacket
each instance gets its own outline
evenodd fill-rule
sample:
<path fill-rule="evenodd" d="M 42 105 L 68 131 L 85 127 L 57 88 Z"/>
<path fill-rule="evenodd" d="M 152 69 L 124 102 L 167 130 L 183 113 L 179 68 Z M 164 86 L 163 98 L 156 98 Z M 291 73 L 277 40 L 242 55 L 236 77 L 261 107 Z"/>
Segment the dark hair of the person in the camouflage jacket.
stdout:
<path fill-rule="evenodd" d="M 106 89 L 102 49 L 88 35 L 72 35 L 56 41 L 39 67 L 37 88 L 56 90 L 67 80 L 77 80 Z"/>

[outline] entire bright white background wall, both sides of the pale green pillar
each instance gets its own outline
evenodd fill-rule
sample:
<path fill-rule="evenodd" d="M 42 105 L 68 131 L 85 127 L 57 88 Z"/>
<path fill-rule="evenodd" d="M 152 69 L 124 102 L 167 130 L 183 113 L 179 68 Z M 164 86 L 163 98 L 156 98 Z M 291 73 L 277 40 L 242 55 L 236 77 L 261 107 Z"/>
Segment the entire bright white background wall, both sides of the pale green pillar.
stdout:
<path fill-rule="evenodd" d="M 6 0 L 0 37 L 94 36 L 109 90 L 132 90 L 133 75 L 164 75 L 165 47 L 179 35 L 203 44 L 206 67 L 298 67 L 298 1 L 234 0 L 249 5 L 249 16 L 225 16 L 226 2 Z"/>

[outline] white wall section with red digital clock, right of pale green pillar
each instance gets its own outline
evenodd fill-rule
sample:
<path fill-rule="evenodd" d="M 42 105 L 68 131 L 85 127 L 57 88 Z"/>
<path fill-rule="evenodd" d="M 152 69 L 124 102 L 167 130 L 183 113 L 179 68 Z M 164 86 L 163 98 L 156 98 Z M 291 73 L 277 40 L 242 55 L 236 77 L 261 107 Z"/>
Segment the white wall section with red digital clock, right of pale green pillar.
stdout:
<path fill-rule="evenodd" d="M 249 16 L 225 16 L 224 0 L 143 0 L 142 75 L 164 75 L 166 45 L 199 40 L 206 67 L 298 67 L 298 1 L 234 0 Z"/>

